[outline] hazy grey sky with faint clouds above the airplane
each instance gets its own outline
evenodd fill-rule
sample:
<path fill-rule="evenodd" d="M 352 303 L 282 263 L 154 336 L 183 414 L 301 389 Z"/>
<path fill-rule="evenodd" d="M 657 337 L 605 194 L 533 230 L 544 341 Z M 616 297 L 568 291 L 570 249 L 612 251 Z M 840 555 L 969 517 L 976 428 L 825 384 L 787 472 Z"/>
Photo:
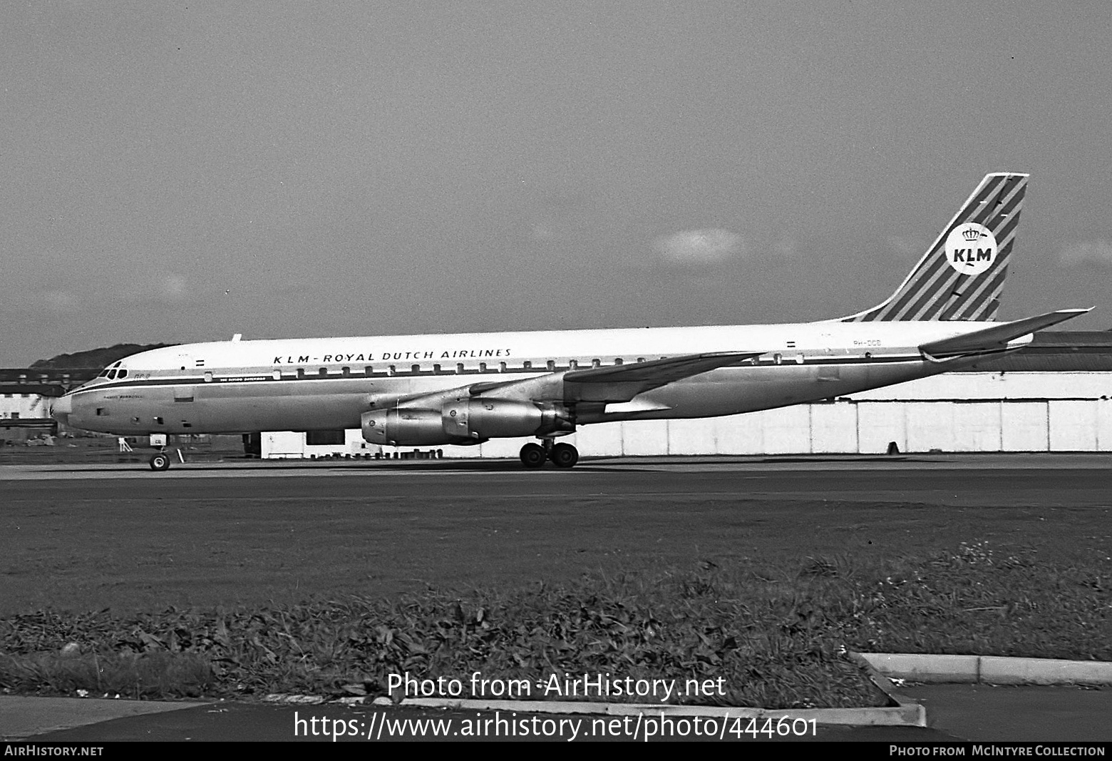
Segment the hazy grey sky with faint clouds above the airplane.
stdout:
<path fill-rule="evenodd" d="M 824 319 L 990 171 L 1002 319 L 1112 328 L 1112 3 L 0 6 L 0 367 Z"/>

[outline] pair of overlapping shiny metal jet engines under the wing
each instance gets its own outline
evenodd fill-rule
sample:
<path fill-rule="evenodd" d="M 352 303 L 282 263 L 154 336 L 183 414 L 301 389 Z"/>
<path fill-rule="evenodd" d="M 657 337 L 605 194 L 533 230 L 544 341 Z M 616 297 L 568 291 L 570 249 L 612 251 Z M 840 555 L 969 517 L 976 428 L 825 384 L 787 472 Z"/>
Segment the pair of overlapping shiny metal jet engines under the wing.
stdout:
<path fill-rule="evenodd" d="M 439 409 L 391 407 L 363 414 L 363 437 L 395 446 L 478 444 L 572 431 L 575 421 L 567 407 L 516 399 L 465 397 L 448 399 Z"/>

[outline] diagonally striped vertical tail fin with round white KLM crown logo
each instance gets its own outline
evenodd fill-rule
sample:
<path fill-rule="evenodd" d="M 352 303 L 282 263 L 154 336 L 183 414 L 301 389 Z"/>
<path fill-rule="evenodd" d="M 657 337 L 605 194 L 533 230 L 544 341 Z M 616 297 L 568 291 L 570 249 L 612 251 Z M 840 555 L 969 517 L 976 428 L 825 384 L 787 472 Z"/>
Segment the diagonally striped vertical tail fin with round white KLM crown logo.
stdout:
<path fill-rule="evenodd" d="M 994 320 L 1027 177 L 986 175 L 903 285 L 883 304 L 842 322 Z"/>

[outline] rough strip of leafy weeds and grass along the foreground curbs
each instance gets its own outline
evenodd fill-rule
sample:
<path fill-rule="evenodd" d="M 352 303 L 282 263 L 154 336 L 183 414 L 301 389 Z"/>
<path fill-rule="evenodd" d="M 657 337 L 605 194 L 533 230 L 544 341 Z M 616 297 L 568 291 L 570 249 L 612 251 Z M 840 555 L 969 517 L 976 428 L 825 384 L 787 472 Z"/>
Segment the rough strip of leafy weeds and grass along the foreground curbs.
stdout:
<path fill-rule="evenodd" d="M 0 620 L 0 686 L 249 699 L 386 694 L 390 674 L 405 672 L 456 678 L 465 692 L 476 671 L 530 682 L 610 673 L 723 679 L 725 694 L 683 702 L 883 704 L 847 650 L 1112 660 L 1110 589 L 1112 560 L 1063 564 L 976 542 L 892 561 L 641 566 L 509 591 L 40 611 Z"/>

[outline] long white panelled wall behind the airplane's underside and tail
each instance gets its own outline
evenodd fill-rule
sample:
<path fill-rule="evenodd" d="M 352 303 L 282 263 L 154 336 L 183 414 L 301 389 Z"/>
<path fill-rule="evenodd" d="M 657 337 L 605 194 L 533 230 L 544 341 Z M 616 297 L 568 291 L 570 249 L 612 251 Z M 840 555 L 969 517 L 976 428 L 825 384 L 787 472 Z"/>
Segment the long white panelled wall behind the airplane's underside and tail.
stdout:
<path fill-rule="evenodd" d="M 728 417 L 588 425 L 562 441 L 577 446 L 585 457 L 878 454 L 890 442 L 901 452 L 1112 452 L 1110 397 L 1112 373 L 955 373 L 834 403 Z M 304 434 L 267 433 L 262 456 L 377 451 L 363 442 L 357 429 L 347 432 L 347 437 L 344 447 L 308 447 Z M 433 448 L 443 449 L 445 457 L 516 457 L 530 441 Z"/>

